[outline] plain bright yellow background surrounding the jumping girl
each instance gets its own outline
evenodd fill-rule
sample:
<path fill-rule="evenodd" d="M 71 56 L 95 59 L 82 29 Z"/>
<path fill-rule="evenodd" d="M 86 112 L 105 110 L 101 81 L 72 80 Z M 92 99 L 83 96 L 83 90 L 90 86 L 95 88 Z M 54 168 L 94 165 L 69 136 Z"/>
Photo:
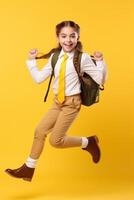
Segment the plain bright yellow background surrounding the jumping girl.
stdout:
<path fill-rule="evenodd" d="M 134 135 L 132 0 L 22 0 L 0 2 L 0 196 L 3 200 L 133 199 Z M 48 140 L 31 183 L 4 173 L 29 155 L 34 129 L 52 104 L 26 65 L 27 52 L 57 44 L 55 25 L 74 20 L 84 50 L 102 51 L 109 69 L 100 103 L 83 107 L 70 135 L 100 138 L 102 159 L 92 163 L 79 148 L 57 150 Z M 38 61 L 39 68 L 46 61 Z"/>

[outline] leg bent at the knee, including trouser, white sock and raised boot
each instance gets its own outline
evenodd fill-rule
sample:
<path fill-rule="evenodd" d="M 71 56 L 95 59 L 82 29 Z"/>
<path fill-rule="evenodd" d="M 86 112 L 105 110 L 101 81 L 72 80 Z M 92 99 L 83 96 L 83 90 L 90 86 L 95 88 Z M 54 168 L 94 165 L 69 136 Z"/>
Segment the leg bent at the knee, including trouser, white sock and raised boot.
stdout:
<path fill-rule="evenodd" d="M 67 130 L 71 126 L 73 120 L 79 113 L 81 106 L 81 100 L 79 96 L 72 96 L 66 98 L 65 103 L 62 106 L 56 124 L 53 128 L 50 136 L 50 143 L 57 148 L 67 147 L 82 147 L 83 150 L 88 151 L 93 159 L 94 163 L 98 163 L 100 160 L 100 148 L 98 146 L 98 138 L 96 136 L 83 137 L 70 137 L 66 135 Z M 86 146 L 85 146 L 86 139 Z M 84 144 L 84 148 L 83 148 Z"/>

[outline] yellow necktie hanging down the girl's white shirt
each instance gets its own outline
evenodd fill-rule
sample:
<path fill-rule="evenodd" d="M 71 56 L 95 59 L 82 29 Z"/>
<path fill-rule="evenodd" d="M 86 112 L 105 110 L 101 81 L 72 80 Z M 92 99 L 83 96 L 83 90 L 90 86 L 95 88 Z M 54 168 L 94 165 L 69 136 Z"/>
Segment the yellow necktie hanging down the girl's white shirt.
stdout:
<path fill-rule="evenodd" d="M 65 98 L 65 70 L 66 70 L 66 62 L 67 62 L 67 54 L 65 53 L 63 56 L 63 60 L 60 66 L 59 72 L 59 84 L 58 84 L 58 101 L 63 103 Z"/>

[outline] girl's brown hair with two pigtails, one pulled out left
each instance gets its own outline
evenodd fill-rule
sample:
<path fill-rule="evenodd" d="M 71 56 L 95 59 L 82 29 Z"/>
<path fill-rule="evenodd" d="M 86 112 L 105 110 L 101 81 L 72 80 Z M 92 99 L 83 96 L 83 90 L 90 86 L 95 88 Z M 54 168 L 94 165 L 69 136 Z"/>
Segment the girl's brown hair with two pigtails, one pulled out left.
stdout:
<path fill-rule="evenodd" d="M 76 24 L 73 21 L 63 21 L 63 22 L 57 24 L 56 25 L 56 35 L 59 36 L 61 29 L 66 27 L 66 26 L 74 28 L 74 30 L 78 33 L 78 39 L 79 39 L 79 37 L 80 37 L 80 27 L 79 27 L 78 24 Z M 42 56 L 37 56 L 36 59 L 49 58 L 52 53 L 54 53 L 57 50 L 60 51 L 61 48 L 62 48 L 61 45 L 58 44 L 58 46 L 56 48 L 51 49 L 48 53 L 46 53 Z M 77 45 L 75 47 L 74 62 L 77 62 L 79 52 L 82 52 L 82 43 L 80 41 L 77 42 Z"/>

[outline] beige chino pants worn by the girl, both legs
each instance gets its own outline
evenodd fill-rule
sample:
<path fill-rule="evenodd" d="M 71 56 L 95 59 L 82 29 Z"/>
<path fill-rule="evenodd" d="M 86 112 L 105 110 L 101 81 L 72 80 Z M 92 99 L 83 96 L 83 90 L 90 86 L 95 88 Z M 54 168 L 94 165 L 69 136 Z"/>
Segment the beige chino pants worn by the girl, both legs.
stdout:
<path fill-rule="evenodd" d="M 55 96 L 52 108 L 48 110 L 35 129 L 30 157 L 33 159 L 39 158 L 44 147 L 45 138 L 50 132 L 49 142 L 52 146 L 57 148 L 80 147 L 82 144 L 81 137 L 66 135 L 80 108 L 80 94 L 66 96 L 63 104 L 60 104 L 57 96 Z"/>

